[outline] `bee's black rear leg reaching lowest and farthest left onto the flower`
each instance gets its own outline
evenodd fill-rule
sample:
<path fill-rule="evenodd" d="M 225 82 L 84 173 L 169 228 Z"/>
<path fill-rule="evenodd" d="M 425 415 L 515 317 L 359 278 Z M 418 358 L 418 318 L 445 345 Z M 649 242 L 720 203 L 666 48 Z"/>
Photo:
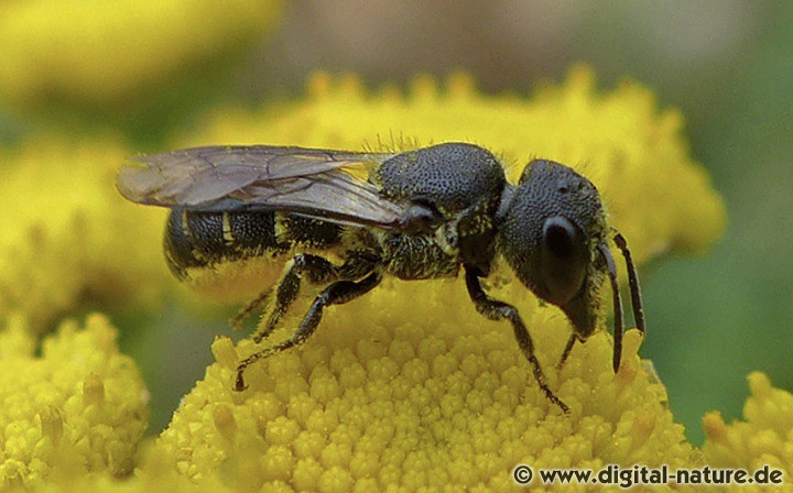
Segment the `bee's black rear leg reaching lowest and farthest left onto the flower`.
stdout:
<path fill-rule="evenodd" d="M 347 302 L 351 302 L 352 299 L 369 293 L 371 289 L 374 288 L 374 286 L 380 284 L 380 281 L 382 281 L 382 274 L 376 271 L 357 282 L 337 281 L 327 286 L 314 299 L 311 308 L 308 308 L 308 311 L 306 311 L 306 315 L 303 317 L 303 321 L 301 322 L 300 327 L 297 327 L 297 330 L 295 330 L 291 338 L 289 338 L 284 342 L 281 342 L 278 346 L 273 346 L 272 348 L 268 348 L 263 351 L 253 353 L 245 360 L 240 361 L 240 363 L 237 365 L 237 381 L 235 384 L 235 390 L 241 392 L 246 388 L 242 374 L 245 373 L 246 368 L 248 368 L 251 363 L 264 358 L 269 358 L 278 352 L 281 352 L 294 346 L 298 346 L 303 343 L 312 333 L 314 333 L 314 330 L 316 330 L 317 326 L 319 325 L 319 320 L 322 320 L 322 313 L 326 306 L 341 305 Z"/>

